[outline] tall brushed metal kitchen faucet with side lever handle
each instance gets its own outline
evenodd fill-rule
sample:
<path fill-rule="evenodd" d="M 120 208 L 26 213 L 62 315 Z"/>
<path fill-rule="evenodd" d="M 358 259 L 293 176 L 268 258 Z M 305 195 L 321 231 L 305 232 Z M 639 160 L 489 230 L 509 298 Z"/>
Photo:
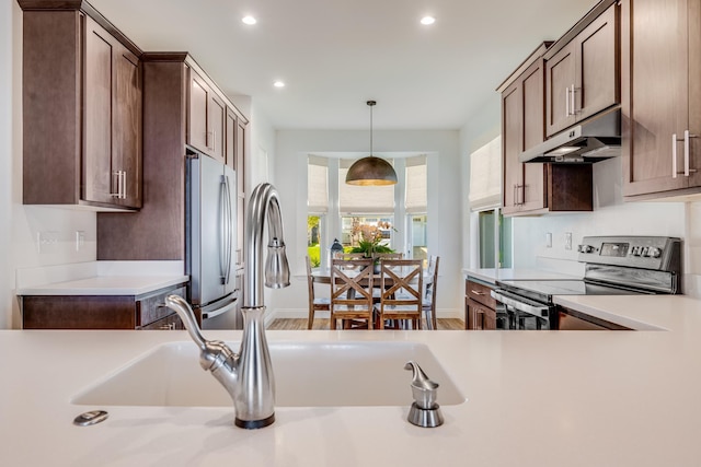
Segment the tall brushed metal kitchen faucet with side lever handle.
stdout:
<path fill-rule="evenodd" d="M 199 347 L 200 366 L 209 370 L 231 396 L 235 425 L 245 429 L 267 427 L 275 421 L 275 378 L 263 322 L 263 224 L 266 214 L 268 255 L 265 285 L 273 289 L 289 285 L 279 198 L 273 185 L 261 184 L 251 195 L 246 217 L 243 336 L 239 353 L 234 353 L 222 341 L 206 340 L 185 300 L 177 295 L 170 295 L 165 300 L 168 307 L 177 313 Z"/>

